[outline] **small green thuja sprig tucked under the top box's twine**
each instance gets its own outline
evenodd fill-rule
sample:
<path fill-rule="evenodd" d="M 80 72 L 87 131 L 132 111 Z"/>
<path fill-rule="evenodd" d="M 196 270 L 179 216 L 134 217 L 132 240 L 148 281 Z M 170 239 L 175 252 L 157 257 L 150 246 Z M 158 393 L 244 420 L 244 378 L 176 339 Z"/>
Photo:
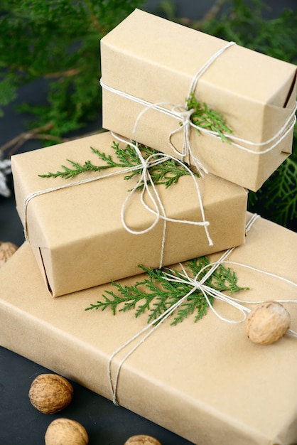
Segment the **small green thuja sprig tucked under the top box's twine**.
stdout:
<path fill-rule="evenodd" d="M 228 142 L 230 144 L 225 133 L 231 134 L 232 129 L 227 126 L 225 119 L 220 112 L 215 111 L 215 109 L 210 109 L 205 102 L 198 102 L 193 92 L 187 98 L 186 104 L 188 109 L 194 110 L 190 117 L 193 124 L 217 133 L 223 142 Z M 197 129 L 197 131 L 199 133 L 199 129 Z"/>

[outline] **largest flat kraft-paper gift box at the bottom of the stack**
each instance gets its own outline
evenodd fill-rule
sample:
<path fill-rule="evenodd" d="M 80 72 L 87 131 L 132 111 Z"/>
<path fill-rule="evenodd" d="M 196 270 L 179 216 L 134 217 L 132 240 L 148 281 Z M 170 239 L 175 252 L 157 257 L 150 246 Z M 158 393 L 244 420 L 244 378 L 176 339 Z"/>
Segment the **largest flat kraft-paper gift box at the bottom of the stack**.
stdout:
<path fill-rule="evenodd" d="M 290 300 L 284 306 L 295 332 L 296 252 L 296 233 L 257 218 L 245 245 L 234 248 L 225 264 L 239 286 L 249 287 L 233 294 L 240 301 Z M 210 262 L 219 257 L 210 255 Z M 135 285 L 145 277 L 119 284 Z M 225 320 L 239 321 L 242 313 L 215 299 L 213 309 L 223 318 L 208 308 L 197 323 L 189 315 L 171 326 L 173 314 L 152 325 L 139 344 L 134 336 L 148 326 L 145 313 L 136 318 L 134 310 L 85 311 L 103 294 L 111 298 L 107 291 L 117 291 L 114 284 L 52 299 L 26 243 L 2 267 L 0 289 L 4 348 L 114 397 L 195 444 L 297 443 L 297 338 L 290 332 L 272 345 L 252 343 L 244 323 Z"/>

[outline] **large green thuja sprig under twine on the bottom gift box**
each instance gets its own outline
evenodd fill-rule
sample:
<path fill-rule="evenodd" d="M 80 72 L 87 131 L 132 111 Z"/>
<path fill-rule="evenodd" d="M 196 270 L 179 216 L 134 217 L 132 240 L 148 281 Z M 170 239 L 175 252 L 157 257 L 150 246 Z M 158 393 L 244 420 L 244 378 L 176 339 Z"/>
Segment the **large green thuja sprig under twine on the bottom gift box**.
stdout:
<path fill-rule="evenodd" d="M 191 259 L 185 265 L 193 277 L 195 277 L 207 264 L 210 264 L 208 257 L 200 257 Z M 117 311 L 126 312 L 134 310 L 136 318 L 144 313 L 148 313 L 148 323 L 150 323 L 193 289 L 190 283 L 168 281 L 166 272 L 170 272 L 175 275 L 175 277 L 181 277 L 181 273 L 176 269 L 151 269 L 142 265 L 139 267 L 146 272 L 146 277 L 143 280 L 131 286 L 123 286 L 121 282 L 111 282 L 116 290 L 105 291 L 102 295 L 102 300 L 97 301 L 96 304 L 90 304 L 85 311 L 92 309 L 101 309 L 102 311 L 111 309 L 115 315 Z M 208 268 L 200 272 L 200 279 L 205 276 L 207 270 Z M 227 291 L 230 295 L 237 291 L 249 289 L 238 286 L 235 272 L 222 266 L 222 264 L 207 278 L 205 284 L 217 291 Z M 210 303 L 212 303 L 211 296 L 209 300 Z M 175 326 L 193 314 L 195 314 L 194 321 L 197 322 L 202 316 L 205 316 L 207 306 L 208 304 L 202 291 L 196 289 L 188 296 L 188 299 L 174 311 L 174 318 L 171 325 Z"/>

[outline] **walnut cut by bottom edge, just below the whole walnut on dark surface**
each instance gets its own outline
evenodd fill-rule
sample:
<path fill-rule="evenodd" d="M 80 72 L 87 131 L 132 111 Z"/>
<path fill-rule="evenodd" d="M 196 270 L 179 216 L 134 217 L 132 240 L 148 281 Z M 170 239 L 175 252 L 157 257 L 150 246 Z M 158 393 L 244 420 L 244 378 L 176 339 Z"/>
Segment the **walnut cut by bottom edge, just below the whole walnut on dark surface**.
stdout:
<path fill-rule="evenodd" d="M 45 445 L 87 445 L 89 437 L 84 427 L 75 420 L 55 419 L 45 432 Z"/>

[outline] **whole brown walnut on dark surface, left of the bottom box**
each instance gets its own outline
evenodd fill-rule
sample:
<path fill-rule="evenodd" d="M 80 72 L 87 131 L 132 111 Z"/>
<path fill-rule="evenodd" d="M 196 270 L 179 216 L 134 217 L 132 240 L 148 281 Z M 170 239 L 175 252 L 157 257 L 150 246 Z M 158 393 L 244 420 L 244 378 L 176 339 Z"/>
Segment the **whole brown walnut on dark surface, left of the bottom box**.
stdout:
<path fill-rule="evenodd" d="M 41 374 L 33 380 L 29 399 L 33 407 L 43 414 L 55 414 L 70 404 L 73 387 L 57 374 Z"/>

